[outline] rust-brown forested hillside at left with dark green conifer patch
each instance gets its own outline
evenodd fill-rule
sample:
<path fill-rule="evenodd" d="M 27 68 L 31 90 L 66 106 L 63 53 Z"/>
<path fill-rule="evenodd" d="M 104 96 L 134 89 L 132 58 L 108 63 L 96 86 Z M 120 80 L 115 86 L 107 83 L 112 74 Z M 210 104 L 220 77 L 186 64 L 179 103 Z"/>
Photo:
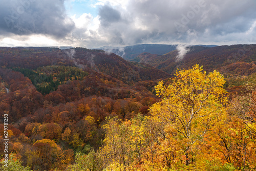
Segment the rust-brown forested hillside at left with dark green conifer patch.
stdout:
<path fill-rule="evenodd" d="M 99 50 L 0 51 L 0 130 L 5 131 L 6 114 L 9 152 L 33 170 L 64 169 L 74 162 L 76 152 L 98 149 L 105 118 L 147 115 L 159 100 L 157 81 L 170 77 Z M 0 146 L 4 149 L 3 143 Z"/>

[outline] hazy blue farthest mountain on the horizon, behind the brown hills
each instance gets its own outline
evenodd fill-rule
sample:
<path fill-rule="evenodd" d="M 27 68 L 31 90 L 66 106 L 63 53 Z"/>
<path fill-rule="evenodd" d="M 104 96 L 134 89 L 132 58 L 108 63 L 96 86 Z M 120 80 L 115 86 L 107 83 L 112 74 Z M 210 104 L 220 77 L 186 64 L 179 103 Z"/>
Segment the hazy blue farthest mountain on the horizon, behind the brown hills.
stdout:
<path fill-rule="evenodd" d="M 142 45 L 133 45 L 133 46 L 126 46 L 126 47 L 110 47 L 105 46 L 99 48 L 100 50 L 104 50 L 106 52 L 115 53 L 123 57 L 126 60 L 133 60 L 141 53 L 151 53 L 157 55 L 163 55 L 170 51 L 176 50 L 178 45 L 158 45 L 158 44 L 142 44 Z M 202 47 L 216 47 L 217 45 L 196 45 Z"/>

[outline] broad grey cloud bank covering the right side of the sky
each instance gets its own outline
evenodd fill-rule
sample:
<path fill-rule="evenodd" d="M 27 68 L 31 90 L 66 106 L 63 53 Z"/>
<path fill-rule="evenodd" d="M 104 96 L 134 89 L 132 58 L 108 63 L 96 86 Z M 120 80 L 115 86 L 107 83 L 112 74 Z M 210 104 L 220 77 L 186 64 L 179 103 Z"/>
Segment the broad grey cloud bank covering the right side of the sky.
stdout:
<path fill-rule="evenodd" d="M 254 0 L 130 0 L 125 8 L 103 6 L 99 14 L 99 29 L 113 45 L 210 42 L 216 37 L 223 42 L 243 37 L 256 21 L 256 5 Z"/>

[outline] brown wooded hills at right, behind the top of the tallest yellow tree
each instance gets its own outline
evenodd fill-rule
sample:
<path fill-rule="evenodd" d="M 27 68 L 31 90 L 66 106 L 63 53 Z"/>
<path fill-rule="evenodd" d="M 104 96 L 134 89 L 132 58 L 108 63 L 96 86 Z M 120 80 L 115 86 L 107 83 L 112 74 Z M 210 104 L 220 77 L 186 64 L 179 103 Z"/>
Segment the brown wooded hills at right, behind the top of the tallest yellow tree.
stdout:
<path fill-rule="evenodd" d="M 256 73 L 256 45 L 232 45 L 213 48 L 194 46 L 181 60 L 177 60 L 178 50 L 156 55 L 141 53 L 133 61 L 146 63 L 169 74 L 177 69 L 187 69 L 196 63 L 207 72 L 214 70 L 223 74 L 228 81 L 226 86 L 240 86 L 249 76 Z"/>

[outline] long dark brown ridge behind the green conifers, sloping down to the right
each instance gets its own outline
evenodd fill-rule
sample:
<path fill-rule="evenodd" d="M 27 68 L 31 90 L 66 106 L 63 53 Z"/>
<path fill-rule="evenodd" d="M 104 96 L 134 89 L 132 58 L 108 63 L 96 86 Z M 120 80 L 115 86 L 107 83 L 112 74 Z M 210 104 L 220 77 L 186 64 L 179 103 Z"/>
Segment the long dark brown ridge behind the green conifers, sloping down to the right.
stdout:
<path fill-rule="evenodd" d="M 86 48 L 0 48 L 0 66 L 37 69 L 44 66 L 75 66 L 109 75 L 126 84 L 157 80 L 170 75 L 144 63 L 127 61 L 114 53 Z"/>

